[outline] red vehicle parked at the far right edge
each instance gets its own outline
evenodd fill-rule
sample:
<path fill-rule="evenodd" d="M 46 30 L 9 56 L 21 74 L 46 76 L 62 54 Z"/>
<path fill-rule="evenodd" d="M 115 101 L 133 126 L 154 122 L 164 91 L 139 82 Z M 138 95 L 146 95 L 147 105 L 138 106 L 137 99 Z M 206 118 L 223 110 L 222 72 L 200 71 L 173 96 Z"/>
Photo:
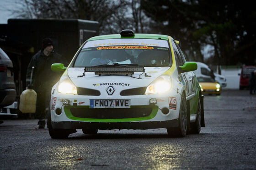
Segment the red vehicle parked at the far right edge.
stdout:
<path fill-rule="evenodd" d="M 240 82 L 239 82 L 239 90 L 243 90 L 244 88 L 249 86 L 249 78 L 252 72 L 256 70 L 256 65 L 244 65 L 241 69 Z"/>

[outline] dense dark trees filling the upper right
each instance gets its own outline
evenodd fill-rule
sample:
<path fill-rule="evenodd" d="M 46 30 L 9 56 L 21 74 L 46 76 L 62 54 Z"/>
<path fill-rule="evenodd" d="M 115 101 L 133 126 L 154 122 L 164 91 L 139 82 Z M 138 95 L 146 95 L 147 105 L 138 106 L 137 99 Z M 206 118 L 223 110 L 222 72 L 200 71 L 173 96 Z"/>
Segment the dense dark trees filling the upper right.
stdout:
<path fill-rule="evenodd" d="M 202 50 L 213 46 L 218 65 L 253 64 L 256 10 L 233 0 L 142 0 L 142 8 L 157 33 L 181 39 L 192 60 L 203 61 Z M 254 56 L 251 57 L 250 56 Z"/>

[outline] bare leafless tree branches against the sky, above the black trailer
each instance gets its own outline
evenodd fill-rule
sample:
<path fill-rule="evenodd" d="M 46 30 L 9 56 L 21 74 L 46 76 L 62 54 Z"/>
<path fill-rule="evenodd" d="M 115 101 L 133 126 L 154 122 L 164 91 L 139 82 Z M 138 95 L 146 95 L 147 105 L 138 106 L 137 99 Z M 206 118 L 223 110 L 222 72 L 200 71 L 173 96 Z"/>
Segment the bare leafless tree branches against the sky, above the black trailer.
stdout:
<path fill-rule="evenodd" d="M 95 20 L 100 24 L 100 34 L 148 30 L 140 0 L 23 0 L 21 4 L 21 9 L 13 10 L 18 17 Z"/>

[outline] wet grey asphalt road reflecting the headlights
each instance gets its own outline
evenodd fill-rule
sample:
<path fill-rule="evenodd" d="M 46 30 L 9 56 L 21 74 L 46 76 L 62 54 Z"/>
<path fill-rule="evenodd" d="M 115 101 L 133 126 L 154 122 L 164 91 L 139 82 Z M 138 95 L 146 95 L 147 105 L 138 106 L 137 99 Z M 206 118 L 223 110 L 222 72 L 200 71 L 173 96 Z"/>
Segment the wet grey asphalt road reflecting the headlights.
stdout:
<path fill-rule="evenodd" d="M 206 127 L 169 138 L 165 129 L 81 130 L 54 140 L 37 120 L 0 124 L 0 169 L 256 169 L 256 95 L 248 90 L 205 96 Z"/>

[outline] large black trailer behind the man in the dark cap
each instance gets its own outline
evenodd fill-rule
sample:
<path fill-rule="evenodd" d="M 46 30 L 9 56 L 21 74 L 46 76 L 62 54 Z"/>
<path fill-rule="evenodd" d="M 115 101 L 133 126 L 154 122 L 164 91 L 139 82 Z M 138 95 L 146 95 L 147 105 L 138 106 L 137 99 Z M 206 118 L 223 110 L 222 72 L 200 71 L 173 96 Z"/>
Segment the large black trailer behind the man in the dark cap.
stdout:
<path fill-rule="evenodd" d="M 50 37 L 53 50 L 70 61 L 85 40 L 98 35 L 99 23 L 78 19 L 9 19 L 0 25 L 0 48 L 14 65 L 14 80 L 19 96 L 26 88 L 27 65 Z"/>

